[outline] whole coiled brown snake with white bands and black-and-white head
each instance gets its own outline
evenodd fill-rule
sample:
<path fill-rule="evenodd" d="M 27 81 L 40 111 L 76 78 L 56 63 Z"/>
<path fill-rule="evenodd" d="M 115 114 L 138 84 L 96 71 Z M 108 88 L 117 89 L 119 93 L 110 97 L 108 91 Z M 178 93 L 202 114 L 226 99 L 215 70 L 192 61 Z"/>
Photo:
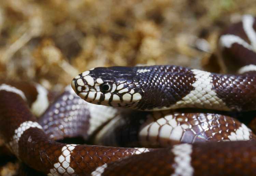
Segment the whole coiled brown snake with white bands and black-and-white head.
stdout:
<path fill-rule="evenodd" d="M 255 134 L 211 112 L 256 109 L 255 29 L 255 18 L 245 15 L 219 36 L 219 51 L 239 65 L 238 74 L 97 67 L 54 100 L 39 84 L 0 81 L 0 135 L 19 160 L 48 176 L 255 175 Z M 93 134 L 99 145 L 60 141 Z"/>

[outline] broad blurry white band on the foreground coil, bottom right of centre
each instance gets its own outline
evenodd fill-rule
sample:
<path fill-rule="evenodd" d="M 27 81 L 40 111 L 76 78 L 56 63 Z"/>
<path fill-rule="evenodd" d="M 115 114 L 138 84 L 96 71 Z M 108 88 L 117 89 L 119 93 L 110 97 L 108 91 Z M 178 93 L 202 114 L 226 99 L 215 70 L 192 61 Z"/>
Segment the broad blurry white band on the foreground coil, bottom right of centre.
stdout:
<path fill-rule="evenodd" d="M 191 144 L 177 144 L 171 149 L 175 155 L 174 173 L 171 176 L 186 175 L 192 176 L 194 173 L 193 166 L 191 165 Z"/>

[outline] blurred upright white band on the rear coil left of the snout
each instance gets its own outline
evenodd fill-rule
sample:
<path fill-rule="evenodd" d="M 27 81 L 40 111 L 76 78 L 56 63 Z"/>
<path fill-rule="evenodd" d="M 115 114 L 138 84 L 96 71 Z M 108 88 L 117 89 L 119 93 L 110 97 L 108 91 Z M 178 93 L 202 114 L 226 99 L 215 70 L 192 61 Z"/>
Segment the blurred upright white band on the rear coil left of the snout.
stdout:
<path fill-rule="evenodd" d="M 31 111 L 36 116 L 40 116 L 49 106 L 48 91 L 40 84 L 35 84 L 37 88 L 37 99 L 32 103 Z"/>

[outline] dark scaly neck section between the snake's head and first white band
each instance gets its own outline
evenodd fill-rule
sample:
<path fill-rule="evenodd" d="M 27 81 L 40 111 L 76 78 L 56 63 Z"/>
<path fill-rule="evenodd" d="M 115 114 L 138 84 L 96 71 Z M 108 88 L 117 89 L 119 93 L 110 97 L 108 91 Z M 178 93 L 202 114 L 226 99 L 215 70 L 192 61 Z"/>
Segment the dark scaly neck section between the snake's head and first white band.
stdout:
<path fill-rule="evenodd" d="M 142 98 L 135 108 L 139 110 L 170 109 L 177 100 L 181 100 L 196 81 L 189 68 L 165 65 L 135 67 L 139 78 L 137 87 Z"/>

